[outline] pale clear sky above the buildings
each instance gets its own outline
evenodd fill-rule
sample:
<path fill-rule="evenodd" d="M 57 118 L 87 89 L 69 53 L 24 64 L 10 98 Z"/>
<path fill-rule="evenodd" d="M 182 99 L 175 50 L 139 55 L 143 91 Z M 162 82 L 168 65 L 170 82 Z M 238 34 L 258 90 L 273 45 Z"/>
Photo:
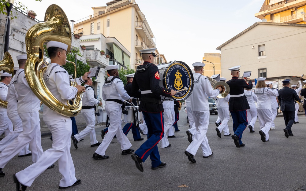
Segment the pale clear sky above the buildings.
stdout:
<path fill-rule="evenodd" d="M 43 21 L 47 7 L 57 4 L 69 20 L 93 14 L 91 7 L 106 6 L 111 0 L 22 0 Z M 220 53 L 218 46 L 255 22 L 264 0 L 135 0 L 146 16 L 159 53 L 167 61 L 188 65 L 201 62 L 204 53 Z"/>

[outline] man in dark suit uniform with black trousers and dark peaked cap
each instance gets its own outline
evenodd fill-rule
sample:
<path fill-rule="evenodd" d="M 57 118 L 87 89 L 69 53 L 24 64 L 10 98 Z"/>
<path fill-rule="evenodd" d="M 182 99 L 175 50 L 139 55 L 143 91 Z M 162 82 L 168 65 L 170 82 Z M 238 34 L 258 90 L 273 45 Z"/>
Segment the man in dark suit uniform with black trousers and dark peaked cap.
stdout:
<path fill-rule="evenodd" d="M 289 88 L 290 79 L 285 79 L 282 81 L 283 89 L 278 90 L 278 101 L 279 105 L 281 105 L 282 112 L 284 114 L 285 125 L 286 128 L 284 129 L 285 137 L 288 138 L 289 136 L 293 136 L 291 131 L 292 124 L 294 122 L 294 113 L 295 113 L 295 106 L 294 100 L 299 101 L 299 96 L 294 89 Z"/>

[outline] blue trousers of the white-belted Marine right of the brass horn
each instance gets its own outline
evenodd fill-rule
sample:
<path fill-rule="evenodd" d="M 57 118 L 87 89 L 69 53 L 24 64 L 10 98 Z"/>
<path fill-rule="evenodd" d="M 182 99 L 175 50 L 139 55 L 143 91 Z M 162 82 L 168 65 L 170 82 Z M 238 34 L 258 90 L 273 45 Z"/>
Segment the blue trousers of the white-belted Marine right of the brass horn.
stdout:
<path fill-rule="evenodd" d="M 239 144 L 242 144 L 242 133 L 248 125 L 247 110 L 230 111 L 233 119 L 233 131 L 239 137 Z"/>

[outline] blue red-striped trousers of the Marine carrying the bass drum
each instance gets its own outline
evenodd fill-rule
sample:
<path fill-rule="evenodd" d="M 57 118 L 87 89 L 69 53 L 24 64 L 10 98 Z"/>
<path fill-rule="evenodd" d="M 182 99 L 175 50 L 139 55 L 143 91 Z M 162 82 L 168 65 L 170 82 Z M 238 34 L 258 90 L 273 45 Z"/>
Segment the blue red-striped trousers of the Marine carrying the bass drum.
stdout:
<path fill-rule="evenodd" d="M 148 128 L 148 139 L 135 151 L 135 154 L 143 162 L 150 156 L 152 167 L 158 167 L 162 162 L 160 161 L 157 144 L 164 136 L 164 116 L 162 112 L 142 112 L 142 114 Z"/>

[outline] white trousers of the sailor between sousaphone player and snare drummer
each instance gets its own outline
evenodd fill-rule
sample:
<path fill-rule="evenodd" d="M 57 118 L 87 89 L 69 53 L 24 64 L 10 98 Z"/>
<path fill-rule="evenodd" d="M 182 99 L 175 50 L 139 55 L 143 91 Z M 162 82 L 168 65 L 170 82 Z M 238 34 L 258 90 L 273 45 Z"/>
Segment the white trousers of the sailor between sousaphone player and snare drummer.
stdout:
<path fill-rule="evenodd" d="M 83 116 L 87 126 L 80 133 L 74 135 L 74 138 L 80 141 L 82 138 L 89 134 L 90 144 L 94 145 L 98 143 L 95 134 L 95 112 L 84 112 Z"/>

